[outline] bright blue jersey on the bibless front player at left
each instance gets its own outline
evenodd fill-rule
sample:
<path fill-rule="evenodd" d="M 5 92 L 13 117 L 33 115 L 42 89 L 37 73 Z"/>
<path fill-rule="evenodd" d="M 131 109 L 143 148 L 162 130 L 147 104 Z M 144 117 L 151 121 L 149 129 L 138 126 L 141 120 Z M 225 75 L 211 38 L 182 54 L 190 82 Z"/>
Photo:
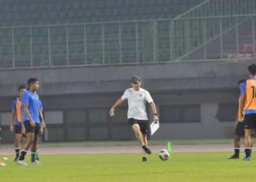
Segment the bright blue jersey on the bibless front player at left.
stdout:
<path fill-rule="evenodd" d="M 23 122 L 28 122 L 29 117 L 26 116 L 26 113 L 24 111 L 24 104 L 29 104 L 29 113 L 34 119 L 34 122 L 40 123 L 39 120 L 39 96 L 37 93 L 33 93 L 30 90 L 27 90 L 22 97 L 22 103 L 23 103 Z"/>

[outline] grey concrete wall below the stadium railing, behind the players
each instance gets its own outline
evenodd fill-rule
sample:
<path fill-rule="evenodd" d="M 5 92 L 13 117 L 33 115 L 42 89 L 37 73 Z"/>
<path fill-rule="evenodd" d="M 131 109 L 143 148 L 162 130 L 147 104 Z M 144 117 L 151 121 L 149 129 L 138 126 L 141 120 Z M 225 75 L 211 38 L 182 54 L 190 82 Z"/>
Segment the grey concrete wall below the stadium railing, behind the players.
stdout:
<path fill-rule="evenodd" d="M 42 84 L 39 94 L 48 116 L 45 140 L 134 140 L 132 130 L 126 122 L 126 106 L 120 112 L 117 111 L 121 115 L 117 122 L 110 119 L 108 109 L 130 87 L 129 78 L 135 74 L 143 77 L 144 87 L 151 91 L 157 102 L 160 117 L 162 106 L 200 106 L 200 121 L 162 124 L 152 140 L 232 137 L 233 121 L 220 122 L 217 119 L 219 104 L 236 105 L 237 82 L 246 78 L 246 66 L 249 63 L 253 62 L 165 63 L 0 71 L 3 138 L 6 142 L 12 141 L 12 133 L 7 132 L 7 123 L 18 85 L 26 83 L 33 76 Z M 102 113 L 99 114 L 102 116 L 101 120 L 93 115 L 94 110 Z M 72 111 L 78 111 L 81 122 L 71 121 Z M 231 114 L 235 119 L 236 113 Z M 99 134 L 101 136 L 97 138 Z"/>

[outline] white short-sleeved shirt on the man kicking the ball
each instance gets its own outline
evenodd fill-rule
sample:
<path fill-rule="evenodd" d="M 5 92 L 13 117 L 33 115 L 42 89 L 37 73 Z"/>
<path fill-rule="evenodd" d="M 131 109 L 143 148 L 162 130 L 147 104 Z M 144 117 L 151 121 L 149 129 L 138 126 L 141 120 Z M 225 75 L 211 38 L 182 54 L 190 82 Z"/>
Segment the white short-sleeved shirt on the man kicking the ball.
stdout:
<path fill-rule="evenodd" d="M 152 103 L 153 99 L 147 90 L 140 88 L 137 91 L 129 88 L 125 90 L 121 100 L 128 100 L 128 119 L 148 120 L 146 102 Z"/>

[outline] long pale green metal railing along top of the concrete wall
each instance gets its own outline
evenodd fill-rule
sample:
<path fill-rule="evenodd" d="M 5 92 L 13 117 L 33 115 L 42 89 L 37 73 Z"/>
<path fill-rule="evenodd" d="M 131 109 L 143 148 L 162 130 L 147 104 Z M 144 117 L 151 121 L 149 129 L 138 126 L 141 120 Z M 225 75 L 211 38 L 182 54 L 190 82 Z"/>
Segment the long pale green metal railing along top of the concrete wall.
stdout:
<path fill-rule="evenodd" d="M 255 22 L 252 13 L 2 27 L 0 68 L 255 58 Z"/>

